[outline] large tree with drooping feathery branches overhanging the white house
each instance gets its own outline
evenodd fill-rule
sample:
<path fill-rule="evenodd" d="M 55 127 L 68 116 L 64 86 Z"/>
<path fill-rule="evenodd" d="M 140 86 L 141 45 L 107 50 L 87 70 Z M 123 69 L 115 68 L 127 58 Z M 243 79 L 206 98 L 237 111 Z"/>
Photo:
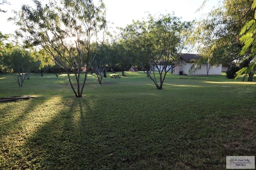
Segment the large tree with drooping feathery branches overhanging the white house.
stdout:
<path fill-rule="evenodd" d="M 202 8 L 207 1 L 204 1 Z M 253 0 L 223 0 L 208 14 L 208 18 L 198 21 L 190 41 L 198 45 L 203 60 L 198 60 L 199 63 L 215 61 L 227 64 L 246 57 L 239 55 L 242 46 L 238 39 L 243 25 L 253 17 L 250 8 L 252 2 Z"/>

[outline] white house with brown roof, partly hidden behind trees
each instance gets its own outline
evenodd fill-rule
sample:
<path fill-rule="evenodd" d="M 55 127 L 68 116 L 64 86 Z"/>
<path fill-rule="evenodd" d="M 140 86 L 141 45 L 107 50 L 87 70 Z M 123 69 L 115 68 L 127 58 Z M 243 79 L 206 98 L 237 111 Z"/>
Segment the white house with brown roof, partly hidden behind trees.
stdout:
<path fill-rule="evenodd" d="M 179 63 L 176 65 L 174 74 L 189 74 L 188 70 L 192 66 L 193 59 L 200 59 L 201 57 L 196 54 L 182 54 Z M 200 65 L 200 68 L 196 72 L 191 73 L 191 75 L 207 75 L 206 64 Z M 211 66 L 208 75 L 221 75 L 222 64 L 217 64 L 216 66 Z"/>

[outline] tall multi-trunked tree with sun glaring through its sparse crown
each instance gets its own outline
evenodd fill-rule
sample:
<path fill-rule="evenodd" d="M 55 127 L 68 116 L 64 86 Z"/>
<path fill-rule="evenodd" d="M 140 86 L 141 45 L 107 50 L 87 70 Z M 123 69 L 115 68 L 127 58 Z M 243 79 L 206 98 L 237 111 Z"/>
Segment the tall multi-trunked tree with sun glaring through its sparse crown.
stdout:
<path fill-rule="evenodd" d="M 18 35 L 24 37 L 26 45 L 44 49 L 64 68 L 75 96 L 82 97 L 87 71 L 95 57 L 90 43 L 92 39 L 98 41 L 98 34 L 106 25 L 102 0 L 98 6 L 92 0 L 61 0 L 44 6 L 34 0 L 34 5 L 35 8 L 22 6 L 16 20 L 20 26 Z M 81 72 L 82 67 L 87 68 L 85 73 Z"/>

